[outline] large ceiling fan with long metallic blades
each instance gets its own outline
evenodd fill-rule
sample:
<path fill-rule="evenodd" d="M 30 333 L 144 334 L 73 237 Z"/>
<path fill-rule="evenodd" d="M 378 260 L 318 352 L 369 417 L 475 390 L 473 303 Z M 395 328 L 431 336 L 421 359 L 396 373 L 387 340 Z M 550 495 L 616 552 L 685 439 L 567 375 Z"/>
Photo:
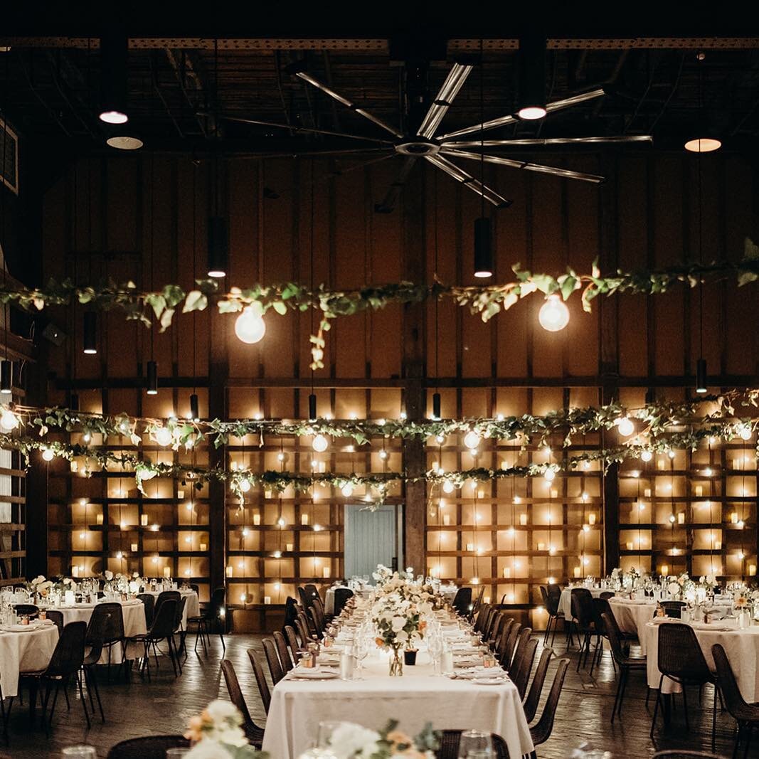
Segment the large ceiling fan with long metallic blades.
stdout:
<path fill-rule="evenodd" d="M 228 121 L 240 121 L 246 124 L 260 124 L 267 127 L 275 127 L 287 129 L 295 132 L 307 132 L 313 134 L 325 134 L 334 137 L 348 137 L 354 140 L 364 140 L 365 142 L 373 143 L 373 147 L 358 148 L 357 150 L 338 150 L 338 151 L 326 151 L 326 154 L 345 154 L 345 153 L 379 153 L 379 157 L 371 159 L 369 162 L 379 162 L 394 156 L 402 156 L 404 162 L 400 171 L 398 172 L 395 181 L 389 187 L 385 197 L 381 203 L 376 203 L 374 206 L 378 213 L 390 213 L 395 206 L 398 195 L 400 194 L 402 187 L 404 186 L 409 172 L 414 167 L 414 164 L 419 159 L 424 159 L 430 162 L 432 165 L 446 172 L 449 176 L 456 181 L 464 184 L 471 191 L 482 196 L 484 200 L 492 203 L 496 208 L 505 208 L 511 205 L 512 201 L 503 197 L 501 194 L 493 190 L 492 187 L 488 187 L 487 184 L 483 184 L 482 181 L 475 178 L 471 174 L 465 171 L 465 169 L 458 166 L 452 159 L 468 159 L 476 161 L 484 161 L 488 163 L 494 163 L 502 166 L 508 166 L 509 168 L 518 168 L 528 172 L 540 172 L 543 174 L 552 174 L 559 177 L 568 179 L 576 179 L 579 181 L 591 182 L 599 184 L 605 180 L 605 177 L 587 174 L 585 172 L 575 172 L 568 168 L 560 168 L 558 166 L 543 165 L 540 163 L 534 163 L 531 161 L 524 161 L 516 158 L 509 158 L 502 155 L 492 155 L 485 153 L 485 149 L 506 149 L 509 148 L 524 148 L 524 147 L 541 147 L 541 146 L 554 146 L 554 145 L 574 145 L 574 144 L 588 144 L 588 143 L 637 143 L 637 142 L 650 142 L 650 135 L 622 135 L 611 137 L 549 137 L 549 138 L 515 138 L 506 140 L 484 140 L 482 133 L 497 127 L 502 127 L 507 124 L 515 124 L 520 121 L 517 115 L 505 115 L 499 118 L 490 119 L 490 121 L 483 121 L 479 124 L 474 124 L 471 127 L 463 129 L 457 129 L 455 131 L 447 132 L 446 134 L 436 134 L 442 119 L 445 117 L 448 109 L 452 106 L 455 97 L 458 95 L 461 87 L 464 86 L 469 74 L 471 74 L 473 65 L 464 63 L 455 63 L 452 69 L 449 71 L 446 80 L 442 83 L 439 92 L 435 99 L 431 102 L 429 109 L 427 110 L 424 118 L 421 119 L 418 128 L 415 130 L 402 131 L 398 128 L 388 124 L 383 119 L 373 115 L 367 109 L 356 106 L 351 100 L 343 97 L 335 90 L 332 90 L 325 83 L 313 77 L 302 65 L 295 65 L 290 67 L 289 71 L 294 76 L 299 77 L 304 82 L 307 82 L 312 87 L 317 87 L 323 93 L 335 99 L 348 109 L 351 109 L 357 115 L 366 118 L 371 121 L 377 127 L 383 129 L 391 135 L 390 138 L 379 137 L 366 137 L 357 134 L 346 134 L 339 131 L 329 131 L 324 129 L 315 129 L 307 127 L 292 126 L 290 124 L 276 124 L 272 121 L 261 121 L 255 118 L 240 118 L 240 117 L 225 117 Z M 578 103 L 585 102 L 587 100 L 602 97 L 604 95 L 602 89 L 591 90 L 587 93 L 580 93 L 562 100 L 556 100 L 546 104 L 546 113 L 550 114 L 571 106 L 576 106 Z M 474 139 L 473 134 L 480 134 L 479 139 Z M 474 152 L 473 148 L 479 148 L 480 152 Z"/>

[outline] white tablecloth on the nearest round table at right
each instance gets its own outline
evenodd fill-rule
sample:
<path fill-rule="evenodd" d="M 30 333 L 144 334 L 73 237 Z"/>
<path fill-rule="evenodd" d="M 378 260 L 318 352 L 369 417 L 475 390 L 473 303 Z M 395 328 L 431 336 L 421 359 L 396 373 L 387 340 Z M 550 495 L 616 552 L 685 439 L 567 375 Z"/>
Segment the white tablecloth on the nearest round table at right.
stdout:
<path fill-rule="evenodd" d="M 671 620 L 679 622 L 678 619 Z M 658 688 L 661 672 L 659 671 L 659 627 L 669 622 L 649 622 L 644 631 L 644 638 L 647 643 L 647 677 L 650 688 Z M 735 627 L 735 619 L 726 619 L 723 622 L 713 622 L 710 625 L 693 624 L 698 644 L 704 652 L 704 658 L 707 660 L 709 669 L 714 670 L 714 660 L 711 654 L 711 647 L 719 643 L 727 654 L 735 679 L 738 681 L 741 694 L 749 704 L 759 701 L 759 626 L 751 626 L 745 630 L 731 629 L 725 631 L 726 627 Z M 643 639 L 641 638 L 641 643 Z M 680 686 L 664 678 L 662 683 L 663 693 L 679 693 L 682 690 Z"/>

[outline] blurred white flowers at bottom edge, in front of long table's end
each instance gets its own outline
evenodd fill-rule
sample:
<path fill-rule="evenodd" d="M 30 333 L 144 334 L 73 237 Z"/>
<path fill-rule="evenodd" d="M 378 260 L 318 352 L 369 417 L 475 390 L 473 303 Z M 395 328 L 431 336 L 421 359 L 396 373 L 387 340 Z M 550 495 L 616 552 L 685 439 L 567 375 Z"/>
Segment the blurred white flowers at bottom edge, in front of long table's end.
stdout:
<path fill-rule="evenodd" d="M 411 738 L 398 730 L 397 720 L 379 732 L 344 722 L 332 731 L 325 748 L 335 759 L 433 759 L 438 739 L 431 723 Z"/>

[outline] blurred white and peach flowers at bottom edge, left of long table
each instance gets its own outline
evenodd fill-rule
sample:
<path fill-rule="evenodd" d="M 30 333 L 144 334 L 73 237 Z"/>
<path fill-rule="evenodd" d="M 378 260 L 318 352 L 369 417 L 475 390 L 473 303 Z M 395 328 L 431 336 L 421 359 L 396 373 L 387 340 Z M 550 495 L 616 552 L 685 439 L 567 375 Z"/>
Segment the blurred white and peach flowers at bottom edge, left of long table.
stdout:
<path fill-rule="evenodd" d="M 247 742 L 242 723 L 242 714 L 234 704 L 211 701 L 192 717 L 184 733 L 194 742 L 188 759 L 268 759 L 266 751 L 257 751 Z"/>

